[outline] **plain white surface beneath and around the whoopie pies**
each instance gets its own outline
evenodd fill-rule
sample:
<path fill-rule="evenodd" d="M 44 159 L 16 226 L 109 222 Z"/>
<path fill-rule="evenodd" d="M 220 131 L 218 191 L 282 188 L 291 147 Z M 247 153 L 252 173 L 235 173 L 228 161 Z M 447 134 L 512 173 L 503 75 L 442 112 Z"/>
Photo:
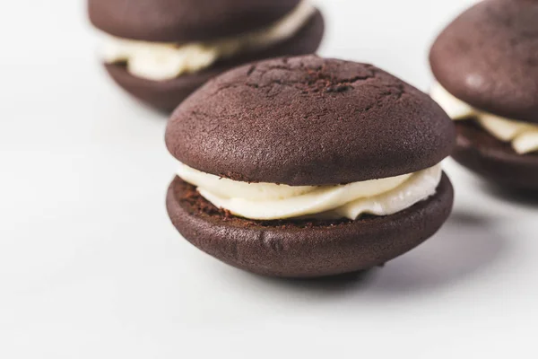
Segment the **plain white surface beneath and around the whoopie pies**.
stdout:
<path fill-rule="evenodd" d="M 427 89 L 468 3 L 325 0 L 322 54 Z M 454 215 L 419 249 L 355 281 L 249 275 L 169 223 L 164 118 L 103 74 L 82 2 L 0 13 L 0 357 L 536 357 L 536 203 L 449 163 Z"/>

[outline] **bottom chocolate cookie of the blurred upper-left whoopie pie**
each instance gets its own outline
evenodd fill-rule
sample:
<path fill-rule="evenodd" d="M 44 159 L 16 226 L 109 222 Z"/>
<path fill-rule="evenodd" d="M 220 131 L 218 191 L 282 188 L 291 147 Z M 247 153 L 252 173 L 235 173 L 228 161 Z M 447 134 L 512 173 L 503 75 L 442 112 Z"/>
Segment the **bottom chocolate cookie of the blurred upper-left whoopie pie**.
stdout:
<path fill-rule="evenodd" d="M 151 81 L 136 77 L 126 71 L 124 65 L 105 65 L 114 81 L 134 97 L 157 109 L 171 112 L 187 96 L 212 77 L 230 68 L 268 57 L 303 55 L 316 52 L 324 33 L 324 20 L 319 11 L 291 39 L 287 39 L 262 51 L 241 54 L 195 74 L 182 74 L 169 81 Z"/>

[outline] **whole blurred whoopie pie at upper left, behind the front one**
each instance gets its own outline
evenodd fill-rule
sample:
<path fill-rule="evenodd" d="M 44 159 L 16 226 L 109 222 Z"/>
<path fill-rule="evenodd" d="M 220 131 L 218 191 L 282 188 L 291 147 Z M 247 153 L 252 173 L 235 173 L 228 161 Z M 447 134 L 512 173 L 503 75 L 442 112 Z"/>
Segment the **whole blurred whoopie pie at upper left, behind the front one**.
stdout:
<path fill-rule="evenodd" d="M 232 67 L 314 53 L 324 32 L 308 0 L 89 0 L 89 13 L 108 73 L 165 111 Z"/>

